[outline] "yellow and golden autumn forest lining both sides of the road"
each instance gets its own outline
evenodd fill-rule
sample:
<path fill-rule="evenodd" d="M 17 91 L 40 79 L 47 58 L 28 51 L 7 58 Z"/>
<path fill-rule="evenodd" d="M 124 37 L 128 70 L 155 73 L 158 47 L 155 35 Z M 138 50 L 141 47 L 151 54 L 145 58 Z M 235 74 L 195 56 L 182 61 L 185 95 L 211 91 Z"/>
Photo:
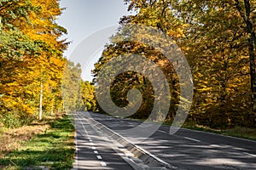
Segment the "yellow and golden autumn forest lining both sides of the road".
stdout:
<path fill-rule="evenodd" d="M 182 49 L 194 83 L 187 122 L 212 128 L 255 127 L 255 0 L 125 4 L 131 15 L 119 20 L 119 30 L 92 71 L 94 81 L 84 82 L 83 65 L 63 56 L 70 40 L 61 39 L 67 30 L 55 22 L 65 11 L 58 0 L 0 0 L 0 127 L 20 127 L 63 111 L 103 113 L 94 95 L 98 73 L 121 54 L 143 55 L 159 65 L 171 89 L 166 122 L 172 122 L 180 100 L 177 74 L 160 51 L 140 42 L 116 41 L 128 24 L 154 27 Z M 143 104 L 131 117 L 145 119 L 154 105 L 154 90 L 143 75 L 127 71 L 116 77 L 111 85 L 113 102 L 127 105 L 131 88 L 143 94 Z"/>

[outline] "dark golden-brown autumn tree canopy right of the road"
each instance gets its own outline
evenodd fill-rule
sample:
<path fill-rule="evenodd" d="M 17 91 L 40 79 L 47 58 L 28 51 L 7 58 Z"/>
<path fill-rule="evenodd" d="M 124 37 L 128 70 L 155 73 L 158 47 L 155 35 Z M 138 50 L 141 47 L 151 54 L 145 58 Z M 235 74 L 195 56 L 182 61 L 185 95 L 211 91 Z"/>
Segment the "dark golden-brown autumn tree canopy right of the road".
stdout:
<path fill-rule="evenodd" d="M 125 3 L 133 13 L 120 19 L 119 31 L 95 65 L 95 80 L 110 59 L 121 54 L 146 56 L 159 65 L 169 82 L 172 99 L 166 121 L 172 122 L 181 100 L 181 84 L 173 63 L 166 62 L 163 54 L 139 41 L 117 39 L 129 32 L 125 31 L 128 24 L 152 26 L 172 37 L 189 62 L 195 94 L 188 121 L 209 127 L 255 126 L 256 1 L 125 0 Z M 144 38 L 143 33 L 132 33 L 138 40 L 140 36 Z M 146 38 L 160 41 L 160 37 Z M 147 117 L 155 96 L 143 75 L 131 71 L 116 77 L 111 87 L 113 101 L 119 106 L 127 105 L 126 94 L 131 88 L 138 88 L 143 94 L 143 105 L 134 116 Z"/>

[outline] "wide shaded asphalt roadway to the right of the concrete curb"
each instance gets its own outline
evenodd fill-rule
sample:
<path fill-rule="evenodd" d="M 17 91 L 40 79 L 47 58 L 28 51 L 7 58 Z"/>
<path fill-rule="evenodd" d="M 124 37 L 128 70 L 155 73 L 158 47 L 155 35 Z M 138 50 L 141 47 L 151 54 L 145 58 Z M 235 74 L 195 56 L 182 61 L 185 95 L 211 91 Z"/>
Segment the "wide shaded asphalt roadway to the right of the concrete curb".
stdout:
<path fill-rule="evenodd" d="M 256 169 L 256 142 L 254 141 L 184 128 L 179 129 L 175 134 L 169 134 L 170 127 L 167 126 L 160 126 L 153 135 L 142 141 L 122 133 L 125 129 L 139 126 L 142 122 L 95 113 L 89 115 L 88 112 L 82 114 L 121 133 L 132 143 L 148 150 L 177 169 Z M 102 144 L 102 148 L 104 147 L 108 148 L 108 144 Z M 107 155 L 112 156 L 111 153 L 108 151 Z M 119 160 L 121 159 L 110 160 L 113 169 L 124 169 L 122 166 L 122 168 L 116 167 L 120 165 L 119 163 L 125 165 L 124 161 L 119 162 Z"/>

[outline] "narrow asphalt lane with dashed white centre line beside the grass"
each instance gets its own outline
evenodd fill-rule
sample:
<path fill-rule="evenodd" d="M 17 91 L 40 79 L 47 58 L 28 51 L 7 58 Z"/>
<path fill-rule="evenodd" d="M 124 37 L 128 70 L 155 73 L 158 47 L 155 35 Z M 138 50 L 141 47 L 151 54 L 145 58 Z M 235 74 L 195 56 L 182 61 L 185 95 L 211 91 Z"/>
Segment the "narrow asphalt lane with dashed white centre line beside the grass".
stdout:
<path fill-rule="evenodd" d="M 75 128 L 77 154 L 73 169 L 133 169 L 113 150 L 113 143 L 79 114 L 75 115 Z"/>

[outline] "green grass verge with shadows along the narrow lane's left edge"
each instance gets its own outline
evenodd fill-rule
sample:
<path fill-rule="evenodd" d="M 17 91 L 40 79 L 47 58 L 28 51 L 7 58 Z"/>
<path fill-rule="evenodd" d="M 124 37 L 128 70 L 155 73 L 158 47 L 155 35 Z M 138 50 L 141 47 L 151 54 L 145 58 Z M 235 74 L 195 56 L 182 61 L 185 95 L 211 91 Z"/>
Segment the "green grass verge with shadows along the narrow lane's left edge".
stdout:
<path fill-rule="evenodd" d="M 44 133 L 0 156 L 0 169 L 71 169 L 74 127 L 67 115 L 49 121 Z"/>

